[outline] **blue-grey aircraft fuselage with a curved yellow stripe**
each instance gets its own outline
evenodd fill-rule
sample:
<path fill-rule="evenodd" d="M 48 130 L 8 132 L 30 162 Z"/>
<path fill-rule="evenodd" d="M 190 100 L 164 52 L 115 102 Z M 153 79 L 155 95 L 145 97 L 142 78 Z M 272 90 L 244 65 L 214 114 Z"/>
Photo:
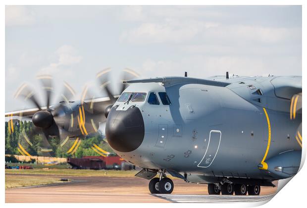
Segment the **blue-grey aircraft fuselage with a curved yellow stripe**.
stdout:
<path fill-rule="evenodd" d="M 146 93 L 146 99 L 144 102 L 117 101 L 113 105 L 106 121 L 110 146 L 137 166 L 185 174 L 190 182 L 207 183 L 209 178 L 217 177 L 274 180 L 293 175 L 274 174 L 271 170 L 275 166 L 271 167 L 267 161 L 277 156 L 278 163 L 280 154 L 301 153 L 296 135 L 302 114 L 297 113 L 296 119 L 290 119 L 290 101 L 294 94 L 302 92 L 302 77 L 225 79 L 225 76 L 216 76 L 209 80 L 229 84 L 130 84 L 123 93 Z M 151 92 L 157 95 L 159 104 L 147 102 Z M 167 93 L 170 105 L 162 104 L 159 92 Z M 131 110 L 131 106 L 141 112 L 144 138 L 132 151 L 122 151 L 112 145 L 108 128 L 120 122 L 116 117 L 118 113 Z M 123 144 L 133 143 L 133 135 L 129 140 Z M 289 157 L 301 158 L 300 155 Z M 290 163 L 298 164 L 297 161 Z"/>

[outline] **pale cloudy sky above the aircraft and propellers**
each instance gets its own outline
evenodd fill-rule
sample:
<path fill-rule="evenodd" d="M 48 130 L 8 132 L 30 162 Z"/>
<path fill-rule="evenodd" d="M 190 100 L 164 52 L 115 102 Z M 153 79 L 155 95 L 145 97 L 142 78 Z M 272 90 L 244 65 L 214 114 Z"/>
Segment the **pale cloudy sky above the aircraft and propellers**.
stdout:
<path fill-rule="evenodd" d="M 142 78 L 302 75 L 301 6 L 5 6 L 5 111 L 24 82 L 45 105 L 40 74 L 98 91 L 96 74 L 124 68 Z M 58 96 L 55 96 L 58 97 Z M 56 99 L 53 100 L 56 102 Z"/>

